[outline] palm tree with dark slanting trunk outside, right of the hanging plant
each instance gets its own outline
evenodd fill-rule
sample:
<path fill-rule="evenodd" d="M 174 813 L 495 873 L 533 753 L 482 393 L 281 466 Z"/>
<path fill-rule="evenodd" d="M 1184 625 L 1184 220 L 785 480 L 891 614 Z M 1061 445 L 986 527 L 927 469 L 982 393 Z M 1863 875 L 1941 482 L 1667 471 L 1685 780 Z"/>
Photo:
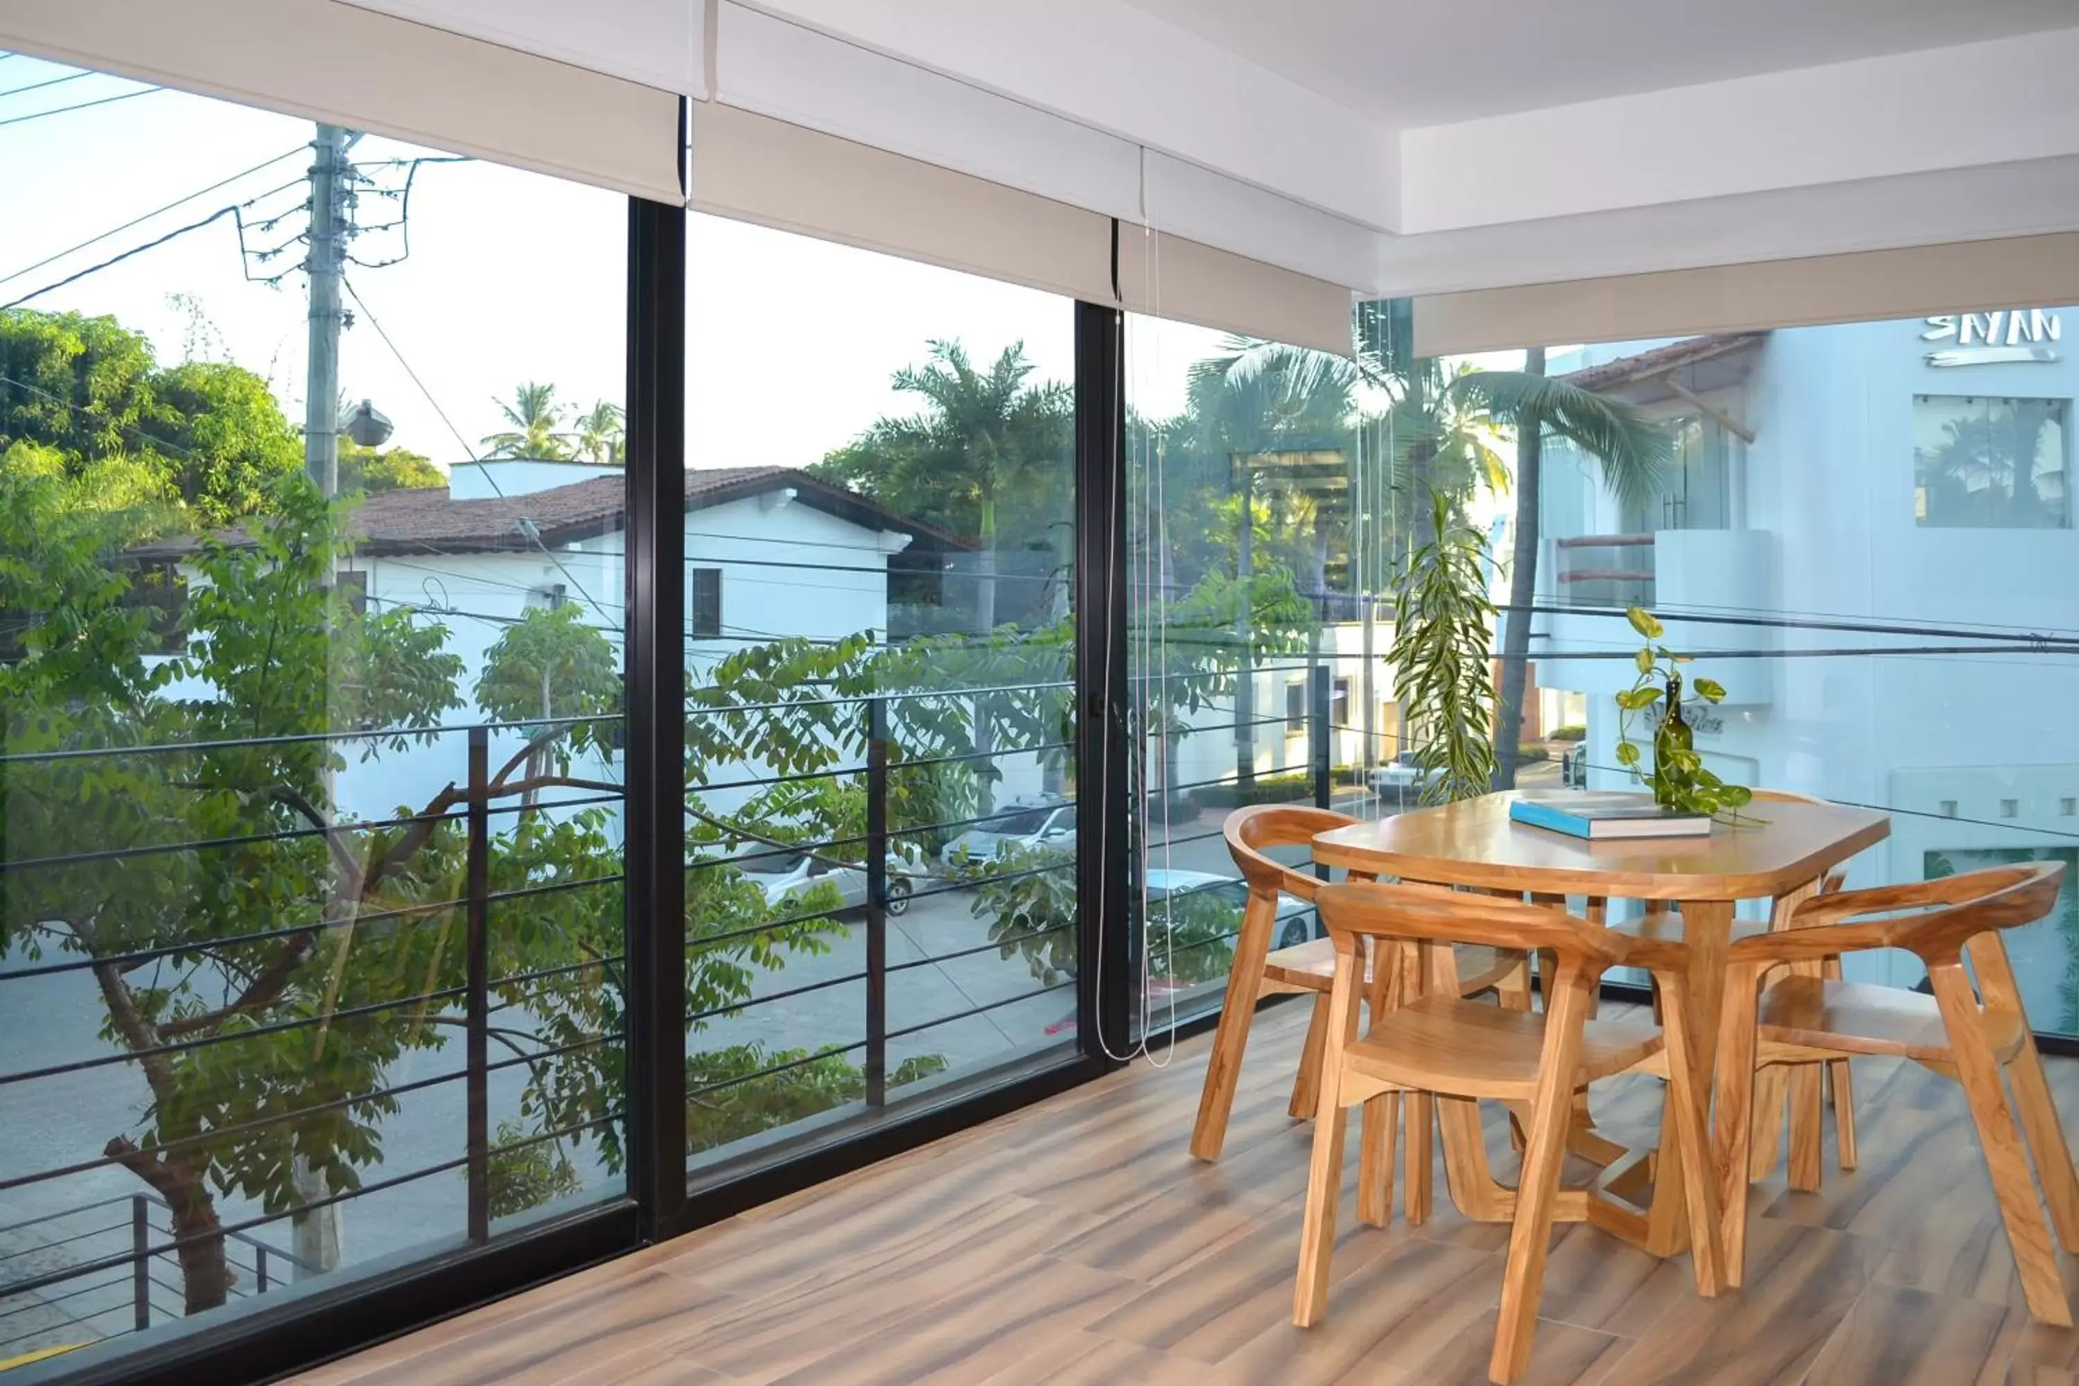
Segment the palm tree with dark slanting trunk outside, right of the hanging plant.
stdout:
<path fill-rule="evenodd" d="M 1603 484 L 1622 503 L 1661 488 L 1674 436 L 1634 405 L 1545 374 L 1545 347 L 1524 353 L 1524 370 L 1464 372 L 1447 387 L 1462 407 L 1516 430 L 1516 551 L 1509 563 L 1509 619 L 1501 636 L 1501 696 L 1495 700 L 1495 788 L 1516 788 L 1516 746 L 1530 669 L 1530 607 L 1538 590 L 1538 492 L 1545 434 L 1570 438 L 1603 463 Z"/>

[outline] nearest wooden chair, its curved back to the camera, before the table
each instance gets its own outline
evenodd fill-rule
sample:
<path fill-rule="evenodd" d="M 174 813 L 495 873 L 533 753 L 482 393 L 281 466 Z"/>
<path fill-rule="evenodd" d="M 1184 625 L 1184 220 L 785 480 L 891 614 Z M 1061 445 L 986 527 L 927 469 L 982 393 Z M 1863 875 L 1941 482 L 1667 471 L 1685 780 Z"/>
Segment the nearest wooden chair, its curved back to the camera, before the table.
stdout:
<path fill-rule="evenodd" d="M 1345 1112 L 1366 1108 L 1358 1166 L 1358 1211 L 1378 1218 L 1372 1191 L 1391 1176 L 1372 1122 L 1374 1105 L 1399 1093 L 1428 1093 L 1476 1120 L 1476 1101 L 1499 1099 L 1522 1114 L 1526 1147 L 1522 1178 L 1501 1191 L 1507 1203 L 1509 1255 L 1501 1276 L 1501 1317 L 1489 1376 L 1514 1382 L 1530 1359 L 1545 1255 L 1553 1222 L 1597 1220 L 1593 1189 L 1559 1189 L 1574 1093 L 1597 1078 L 1630 1070 L 1667 1072 L 1667 1101 L 1680 1157 L 1688 1170 L 1709 1170 L 1705 1143 L 1705 1089 L 1696 1081 L 1686 1027 L 1686 954 L 1680 945 L 1634 939 L 1549 906 L 1428 885 L 1347 883 L 1316 891 L 1328 941 L 1335 948 L 1335 983 L 1328 997 L 1328 1049 L 1314 1118 L 1314 1162 L 1308 1178 L 1306 1222 L 1299 1234 L 1299 1282 L 1293 1322 L 1318 1324 L 1328 1303 L 1328 1263 L 1335 1251 L 1335 1203 L 1343 1178 Z M 1358 1033 L 1364 943 L 1412 939 L 1422 958 L 1422 993 L 1374 1012 Z M 1557 960 L 1543 1012 L 1511 1012 L 1457 995 L 1451 943 L 1501 950 L 1551 950 Z M 1665 979 L 1667 1022 L 1590 1020 L 1588 1008 L 1605 968 L 1636 964 Z M 1453 1166 L 1457 1195 L 1466 1170 Z M 1472 1180 L 1466 1180 L 1468 1184 Z M 1692 1224 L 1696 1292 L 1719 1288 L 1711 1178 L 1682 1180 Z M 1368 1209 L 1366 1203 L 1372 1207 Z"/>

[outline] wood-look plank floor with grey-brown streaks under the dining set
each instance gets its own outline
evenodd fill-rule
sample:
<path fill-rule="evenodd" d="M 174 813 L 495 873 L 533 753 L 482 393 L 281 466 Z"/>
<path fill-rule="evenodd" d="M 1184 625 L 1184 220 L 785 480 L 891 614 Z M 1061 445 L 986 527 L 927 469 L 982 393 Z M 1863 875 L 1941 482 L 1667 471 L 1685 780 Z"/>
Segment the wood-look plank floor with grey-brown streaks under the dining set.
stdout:
<path fill-rule="evenodd" d="M 1356 1224 L 1320 1328 L 1291 1326 L 1308 1128 L 1285 1116 L 1306 1010 L 1258 1018 L 1227 1153 L 1185 1153 L 1208 1039 L 694 1236 L 301 1378 L 310 1386 L 1376 1386 L 1484 1382 L 1507 1228 L 1443 1197 Z M 2050 1060 L 2079 1118 L 2079 1062 Z M 1755 1189 L 1746 1288 L 1692 1295 L 1563 1228 L 1526 1384 L 2079 1386 L 2079 1332 L 2029 1322 L 1960 1091 L 1857 1062 L 1863 1168 Z M 1597 1087 L 1617 1139 L 1657 1085 Z M 1356 1122 L 1351 1122 L 1356 1128 Z M 1511 1157 L 1491 1130 L 1497 1172 Z M 1347 1162 L 1356 1172 L 1356 1157 Z M 2067 1284 L 2073 1268 L 2062 1261 Z"/>

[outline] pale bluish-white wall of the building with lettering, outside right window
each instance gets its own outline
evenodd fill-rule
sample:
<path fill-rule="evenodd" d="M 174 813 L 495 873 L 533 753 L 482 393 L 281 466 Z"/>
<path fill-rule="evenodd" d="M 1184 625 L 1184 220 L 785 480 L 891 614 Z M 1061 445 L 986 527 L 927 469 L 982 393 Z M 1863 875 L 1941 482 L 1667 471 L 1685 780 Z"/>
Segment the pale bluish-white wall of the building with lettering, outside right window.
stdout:
<path fill-rule="evenodd" d="M 2079 310 L 2060 310 L 2079 328 Z M 1782 630 L 1682 623 L 1672 644 L 1769 648 L 1784 659 L 1703 665 L 1732 692 L 1723 727 L 1696 738 L 1757 783 L 1875 804 L 1894 815 L 1892 842 L 1865 852 L 1850 883 L 1921 879 L 1929 850 L 2079 846 L 2079 657 L 1942 652 L 2010 644 L 2029 632 L 2079 634 L 2079 528 L 1963 530 L 1915 522 L 1913 397 L 2079 397 L 2073 339 L 2058 362 L 1933 368 L 1923 322 L 1790 328 L 1769 337 L 1738 401 L 1757 438 L 1746 449 L 1746 524 L 1767 534 L 1767 594 L 1728 596 L 1728 609 L 1786 613 L 1871 630 Z M 1601 359 L 1642 345 L 1599 347 Z M 2071 449 L 2071 414 L 2067 414 Z M 1607 503 L 1590 499 L 1588 509 Z M 2079 497 L 2073 501 L 2079 509 Z M 1663 540 L 1669 538 L 1663 534 Z M 1696 536 L 1674 536 L 1674 544 Z M 1715 540 L 1707 540 L 1715 542 Z M 1728 592 L 1753 586 L 1728 576 Z M 1667 603 L 1663 588 L 1661 601 Z M 1669 603 L 1672 605 L 1672 603 Z M 1927 634 L 1956 632 L 1956 634 Z M 1636 644 L 1622 621 L 1553 617 L 1547 648 Z M 1842 648 L 1911 655 L 1827 655 Z M 1590 763 L 1613 765 L 1622 665 L 1541 657 L 1555 686 L 1590 698 Z M 1620 783 L 1601 771 L 1590 783 Z M 1954 802 L 1954 817 L 1946 802 Z M 2073 804 L 2079 808 L 2079 804 Z M 2052 1016 L 2064 945 L 2044 937 L 2023 952 L 2029 1004 Z M 1863 964 L 1913 981 L 1904 958 Z M 2039 1020 L 2042 1020 L 2039 1016 Z"/>

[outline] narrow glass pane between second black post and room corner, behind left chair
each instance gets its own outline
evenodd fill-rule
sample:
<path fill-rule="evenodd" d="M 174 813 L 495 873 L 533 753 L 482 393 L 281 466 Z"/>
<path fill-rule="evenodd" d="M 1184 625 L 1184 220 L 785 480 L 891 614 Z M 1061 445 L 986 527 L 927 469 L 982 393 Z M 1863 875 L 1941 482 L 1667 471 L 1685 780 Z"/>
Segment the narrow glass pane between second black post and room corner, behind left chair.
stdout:
<path fill-rule="evenodd" d="M 1229 812 L 1374 815 L 1420 794 L 1414 767 L 1395 765 L 1380 584 L 1410 536 L 1393 472 L 1407 397 L 1351 357 L 1127 318 L 1133 906 L 1150 1027 L 1218 1004 L 1245 898 L 1220 837 Z M 1285 900 L 1272 943 L 1316 935 L 1312 908 Z"/>

